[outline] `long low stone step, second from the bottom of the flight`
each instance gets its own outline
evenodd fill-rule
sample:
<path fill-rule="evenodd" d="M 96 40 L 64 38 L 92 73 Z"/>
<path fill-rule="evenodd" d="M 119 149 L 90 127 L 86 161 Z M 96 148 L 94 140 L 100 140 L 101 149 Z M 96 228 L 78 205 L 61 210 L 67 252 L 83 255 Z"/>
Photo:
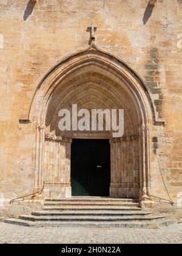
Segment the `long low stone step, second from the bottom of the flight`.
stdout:
<path fill-rule="evenodd" d="M 153 221 L 165 219 L 165 216 L 33 216 L 20 215 L 27 221 Z"/>

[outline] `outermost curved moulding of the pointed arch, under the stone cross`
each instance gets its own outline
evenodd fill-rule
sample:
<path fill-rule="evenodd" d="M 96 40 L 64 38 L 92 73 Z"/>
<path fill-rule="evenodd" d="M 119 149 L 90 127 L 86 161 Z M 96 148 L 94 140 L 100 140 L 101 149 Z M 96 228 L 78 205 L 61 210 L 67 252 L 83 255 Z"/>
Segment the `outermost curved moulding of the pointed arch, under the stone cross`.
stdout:
<path fill-rule="evenodd" d="M 152 114 L 152 116 L 149 118 L 152 118 L 152 123 L 154 125 L 160 124 L 160 121 L 157 120 L 155 115 L 155 108 L 153 106 L 152 99 L 150 98 L 149 90 L 143 79 L 141 79 L 141 77 L 138 76 L 138 74 L 136 74 L 135 71 L 133 71 L 133 69 L 130 68 L 124 61 L 121 61 L 112 54 L 101 51 L 100 49 L 86 49 L 85 51 L 70 55 L 66 59 L 61 60 L 61 62 L 59 62 L 57 65 L 53 66 L 53 68 L 51 68 L 49 72 L 45 74 L 41 82 L 39 82 L 30 106 L 30 121 L 35 121 L 36 118 L 36 121 L 39 120 L 40 113 L 37 113 L 35 110 L 39 109 L 40 111 L 40 108 L 46 105 L 46 101 L 49 100 L 48 95 L 52 93 L 56 85 L 58 85 L 61 80 L 65 79 L 65 77 L 67 77 L 68 74 L 73 72 L 75 69 L 78 70 L 79 68 L 82 68 L 85 65 L 90 65 L 93 62 L 95 62 L 95 64 L 98 66 L 106 65 L 106 71 L 108 71 L 108 69 L 112 69 L 112 71 L 116 72 L 117 76 L 126 79 L 131 87 L 135 87 L 135 92 L 138 92 L 138 96 L 140 93 L 141 97 L 145 96 L 143 101 L 147 102 L 146 107 L 150 108 L 150 112 Z M 37 113 L 36 116 L 34 115 L 35 112 Z"/>

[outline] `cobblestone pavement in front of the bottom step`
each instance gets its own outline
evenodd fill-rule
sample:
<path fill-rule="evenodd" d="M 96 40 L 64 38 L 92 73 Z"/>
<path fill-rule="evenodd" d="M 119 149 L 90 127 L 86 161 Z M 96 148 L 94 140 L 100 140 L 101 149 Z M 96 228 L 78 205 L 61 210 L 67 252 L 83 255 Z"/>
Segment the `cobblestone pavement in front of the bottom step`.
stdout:
<path fill-rule="evenodd" d="M 182 224 L 161 229 L 33 228 L 0 222 L 0 243 L 182 243 Z"/>

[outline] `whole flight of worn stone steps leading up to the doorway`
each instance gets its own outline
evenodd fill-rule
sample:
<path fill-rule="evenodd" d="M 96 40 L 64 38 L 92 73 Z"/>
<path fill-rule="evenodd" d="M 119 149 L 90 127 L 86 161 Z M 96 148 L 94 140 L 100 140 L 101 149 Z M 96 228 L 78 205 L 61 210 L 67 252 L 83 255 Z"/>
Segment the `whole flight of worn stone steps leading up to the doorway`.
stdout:
<path fill-rule="evenodd" d="M 132 199 L 71 197 L 45 199 L 44 209 L 6 223 L 28 227 L 149 227 L 174 224 L 165 216 L 153 216 Z"/>

